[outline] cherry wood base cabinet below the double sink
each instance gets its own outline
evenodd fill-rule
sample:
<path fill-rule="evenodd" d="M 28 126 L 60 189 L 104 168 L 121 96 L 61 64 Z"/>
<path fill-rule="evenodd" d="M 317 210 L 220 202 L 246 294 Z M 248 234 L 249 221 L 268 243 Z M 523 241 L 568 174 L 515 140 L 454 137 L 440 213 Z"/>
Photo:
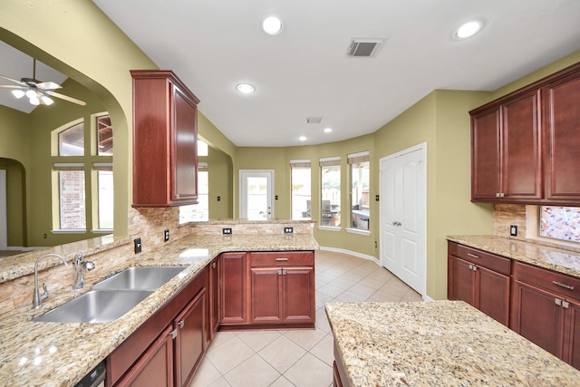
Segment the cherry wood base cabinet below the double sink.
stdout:
<path fill-rule="evenodd" d="M 106 386 L 187 386 L 208 347 L 208 267 L 107 357 Z"/>

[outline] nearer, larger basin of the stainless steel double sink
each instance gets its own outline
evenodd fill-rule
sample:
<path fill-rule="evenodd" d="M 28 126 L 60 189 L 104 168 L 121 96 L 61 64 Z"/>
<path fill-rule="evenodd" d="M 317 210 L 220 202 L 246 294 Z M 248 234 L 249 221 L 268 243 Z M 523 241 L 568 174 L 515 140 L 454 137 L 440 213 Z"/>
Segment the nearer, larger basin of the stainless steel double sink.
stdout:
<path fill-rule="evenodd" d="M 35 317 L 35 322 L 108 323 L 126 314 L 150 290 L 92 290 L 53 310 Z"/>

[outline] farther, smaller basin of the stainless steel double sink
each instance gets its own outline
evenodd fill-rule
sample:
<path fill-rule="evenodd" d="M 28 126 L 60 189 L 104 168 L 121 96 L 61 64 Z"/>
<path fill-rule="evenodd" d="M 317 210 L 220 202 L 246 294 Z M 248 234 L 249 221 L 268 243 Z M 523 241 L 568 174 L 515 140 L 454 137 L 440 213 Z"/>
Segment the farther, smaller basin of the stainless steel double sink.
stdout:
<path fill-rule="evenodd" d="M 183 266 L 130 267 L 92 286 L 99 290 L 156 290 L 185 269 Z"/>

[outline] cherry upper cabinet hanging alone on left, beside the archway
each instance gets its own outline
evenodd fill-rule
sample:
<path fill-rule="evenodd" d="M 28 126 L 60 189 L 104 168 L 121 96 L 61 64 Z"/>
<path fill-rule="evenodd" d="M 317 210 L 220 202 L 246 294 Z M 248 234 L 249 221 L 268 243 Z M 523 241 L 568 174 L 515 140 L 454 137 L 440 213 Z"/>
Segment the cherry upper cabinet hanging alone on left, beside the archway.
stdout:
<path fill-rule="evenodd" d="M 133 77 L 133 207 L 198 203 L 198 98 L 170 71 Z"/>

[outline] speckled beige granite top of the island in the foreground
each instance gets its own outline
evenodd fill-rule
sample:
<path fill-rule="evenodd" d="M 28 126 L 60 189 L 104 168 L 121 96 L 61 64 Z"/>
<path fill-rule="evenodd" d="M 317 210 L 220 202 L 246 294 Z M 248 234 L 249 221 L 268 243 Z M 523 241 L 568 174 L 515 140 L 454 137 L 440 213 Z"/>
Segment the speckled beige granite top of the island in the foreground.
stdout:
<path fill-rule="evenodd" d="M 578 385 L 580 371 L 462 301 L 325 305 L 351 387 Z M 348 384 L 347 384 L 348 383 Z"/>

